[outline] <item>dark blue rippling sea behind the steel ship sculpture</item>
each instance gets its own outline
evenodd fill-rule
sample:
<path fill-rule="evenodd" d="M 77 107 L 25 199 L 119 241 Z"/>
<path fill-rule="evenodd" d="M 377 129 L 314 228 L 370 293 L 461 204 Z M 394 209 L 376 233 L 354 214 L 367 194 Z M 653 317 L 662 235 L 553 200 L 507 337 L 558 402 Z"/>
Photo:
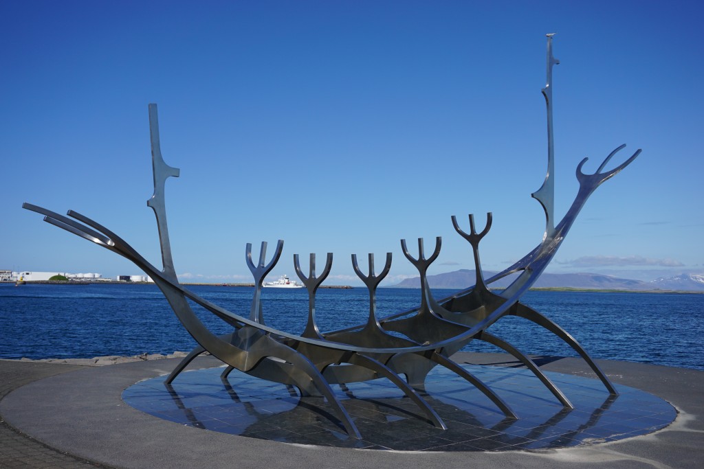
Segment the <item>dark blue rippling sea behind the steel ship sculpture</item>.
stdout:
<path fill-rule="evenodd" d="M 253 288 L 191 285 L 195 293 L 249 316 Z M 454 290 L 433 290 L 436 298 Z M 265 323 L 300 334 L 308 315 L 305 289 L 265 289 Z M 379 288 L 377 311 L 386 316 L 417 306 L 420 290 Z M 597 359 L 637 361 L 704 370 L 704 295 L 531 291 L 523 302 L 548 316 Z M 196 309 L 196 308 L 194 308 Z M 321 330 L 363 323 L 366 288 L 323 289 L 316 297 Z M 230 326 L 196 309 L 215 333 Z M 577 356 L 560 339 L 524 319 L 506 317 L 489 329 L 522 352 Z M 92 358 L 168 354 L 196 342 L 177 321 L 155 285 L 44 285 L 0 283 L 0 358 Z M 499 352 L 473 341 L 465 350 Z"/>

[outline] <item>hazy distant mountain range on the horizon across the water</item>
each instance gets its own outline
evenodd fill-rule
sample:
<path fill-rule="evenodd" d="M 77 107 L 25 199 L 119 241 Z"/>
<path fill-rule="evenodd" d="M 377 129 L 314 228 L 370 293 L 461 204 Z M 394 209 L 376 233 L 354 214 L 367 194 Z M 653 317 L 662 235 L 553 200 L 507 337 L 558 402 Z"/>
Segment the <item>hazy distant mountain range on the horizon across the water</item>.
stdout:
<path fill-rule="evenodd" d="M 497 272 L 484 271 L 484 278 L 491 278 Z M 429 275 L 428 283 L 431 288 L 467 288 L 475 283 L 474 270 L 460 269 L 446 274 Z M 491 283 L 491 288 L 505 288 L 514 276 L 502 278 Z M 584 290 L 679 290 L 679 291 L 704 291 L 704 275 L 681 274 L 670 278 L 643 282 L 629 278 L 618 278 L 601 274 L 547 274 L 543 273 L 535 288 L 579 288 Z M 420 277 L 406 278 L 394 285 L 396 288 L 420 288 Z"/>

